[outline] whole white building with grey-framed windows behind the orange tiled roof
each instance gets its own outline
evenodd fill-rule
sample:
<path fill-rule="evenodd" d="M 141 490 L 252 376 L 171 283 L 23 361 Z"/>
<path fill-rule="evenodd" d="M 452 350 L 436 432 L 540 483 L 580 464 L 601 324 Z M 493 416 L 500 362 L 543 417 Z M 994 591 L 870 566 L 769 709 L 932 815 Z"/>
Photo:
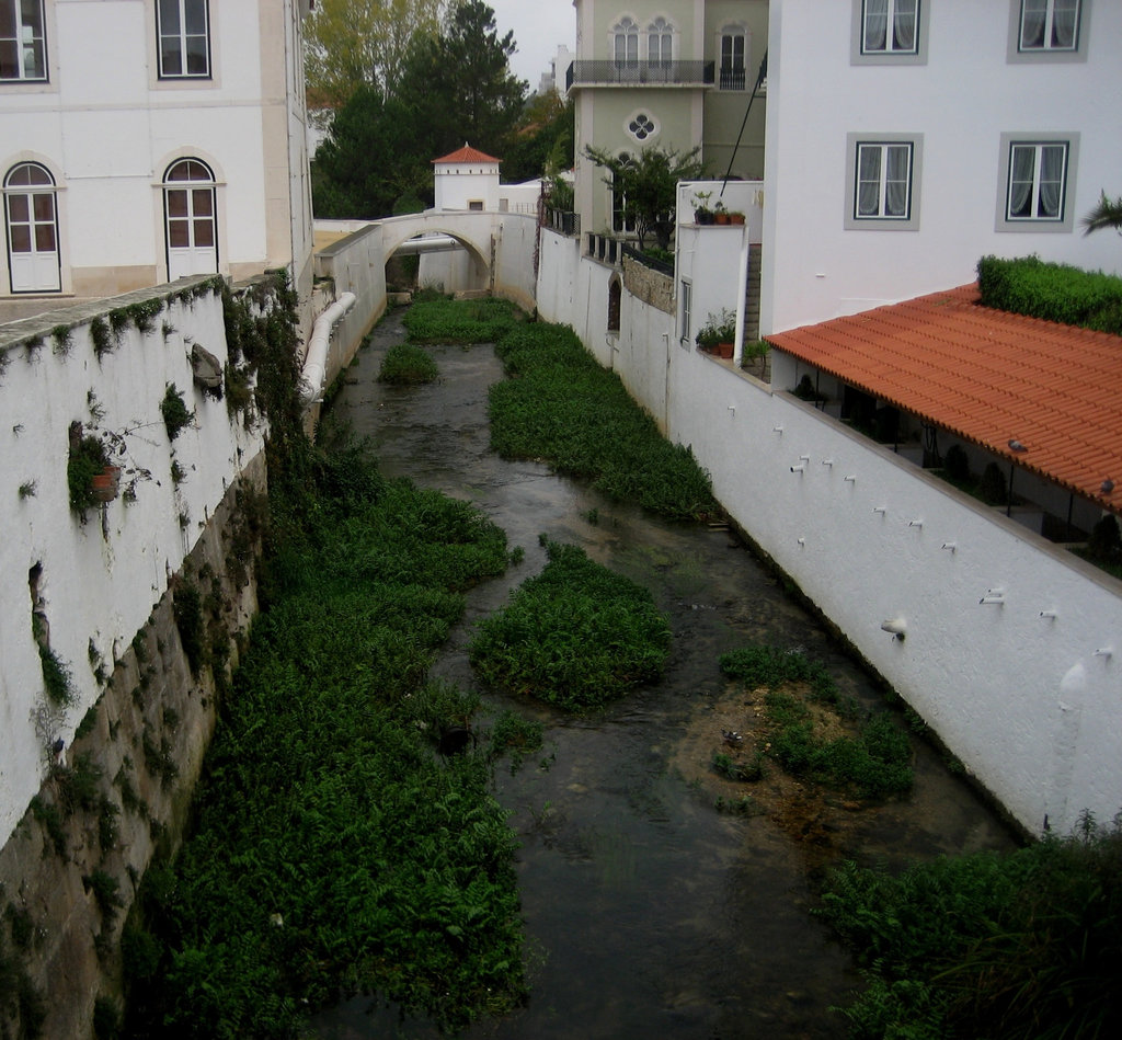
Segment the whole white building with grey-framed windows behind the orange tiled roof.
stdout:
<path fill-rule="evenodd" d="M 973 280 L 980 257 L 1122 270 L 1122 4 L 771 0 L 761 328 Z"/>

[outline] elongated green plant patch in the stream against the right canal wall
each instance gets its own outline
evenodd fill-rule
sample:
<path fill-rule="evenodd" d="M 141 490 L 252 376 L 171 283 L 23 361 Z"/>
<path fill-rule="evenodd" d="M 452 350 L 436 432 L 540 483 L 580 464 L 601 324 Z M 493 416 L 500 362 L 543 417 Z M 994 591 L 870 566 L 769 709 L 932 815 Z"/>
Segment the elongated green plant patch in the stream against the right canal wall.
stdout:
<path fill-rule="evenodd" d="M 508 378 L 490 388 L 491 448 L 514 459 L 548 459 L 605 495 L 678 519 L 718 512 L 709 477 L 689 448 L 670 444 L 619 377 L 585 350 L 571 329 L 531 323 L 496 352 Z"/>

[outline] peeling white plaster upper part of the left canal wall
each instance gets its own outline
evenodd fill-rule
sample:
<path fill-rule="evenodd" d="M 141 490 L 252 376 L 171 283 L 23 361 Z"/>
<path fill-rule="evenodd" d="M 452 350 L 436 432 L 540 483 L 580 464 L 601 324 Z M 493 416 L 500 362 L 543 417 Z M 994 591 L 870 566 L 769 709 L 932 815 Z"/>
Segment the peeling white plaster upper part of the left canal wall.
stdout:
<path fill-rule="evenodd" d="M 184 283 L 177 283 L 176 288 Z M 187 282 L 190 287 L 190 282 Z M 164 292 L 167 288 L 164 287 Z M 38 791 L 47 747 L 56 737 L 68 745 L 74 729 L 96 701 L 100 688 L 90 660 L 91 645 L 107 672 L 145 624 L 167 589 L 201 527 L 236 476 L 263 447 L 263 429 L 247 430 L 192 383 L 191 344 L 227 359 L 220 295 L 165 305 L 155 329 L 141 334 L 129 325 L 118 348 L 99 361 L 89 322 L 113 306 L 144 298 L 142 293 L 104 301 L 82 311 L 68 353 L 54 349 L 50 328 L 70 312 L 54 312 L 40 330 L 44 342 L 29 351 L 13 335 L 26 337 L 34 322 L 4 326 L 0 349 L 7 367 L 0 378 L 4 421 L 0 471 L 0 844 Z M 165 337 L 163 326 L 168 325 Z M 174 442 L 160 416 L 165 388 L 182 392 L 195 422 Z M 103 409 L 94 418 L 91 408 Z M 100 430 L 123 432 L 128 455 L 122 464 L 150 472 L 136 485 L 136 500 L 118 497 L 88 510 L 82 524 L 70 508 L 66 480 L 70 424 L 80 420 Z M 186 479 L 172 481 L 172 460 Z M 122 477 L 122 486 L 128 476 Z M 21 485 L 34 494 L 21 497 Z M 185 518 L 185 525 L 181 523 Z M 31 634 L 28 572 L 40 564 L 39 592 L 50 626 L 50 646 L 71 670 L 75 701 L 53 709 Z M 38 725 L 37 725 L 38 719 Z"/>

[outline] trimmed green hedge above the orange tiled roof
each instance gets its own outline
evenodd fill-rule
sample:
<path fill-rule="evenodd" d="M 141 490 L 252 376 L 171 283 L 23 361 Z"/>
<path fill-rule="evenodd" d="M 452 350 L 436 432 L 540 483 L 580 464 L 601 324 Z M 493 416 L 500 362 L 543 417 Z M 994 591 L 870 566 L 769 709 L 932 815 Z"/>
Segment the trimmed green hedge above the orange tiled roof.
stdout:
<path fill-rule="evenodd" d="M 987 307 L 1122 335 L 1122 278 L 1037 256 L 978 260 L 978 288 Z"/>

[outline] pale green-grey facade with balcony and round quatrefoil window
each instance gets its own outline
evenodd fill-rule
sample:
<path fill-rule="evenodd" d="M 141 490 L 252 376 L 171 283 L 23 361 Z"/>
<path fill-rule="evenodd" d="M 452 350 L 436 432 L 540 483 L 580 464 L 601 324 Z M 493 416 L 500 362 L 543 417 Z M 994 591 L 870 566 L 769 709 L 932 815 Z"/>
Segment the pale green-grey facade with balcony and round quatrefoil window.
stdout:
<path fill-rule="evenodd" d="M 766 0 L 574 6 L 568 88 L 576 98 L 577 212 L 586 230 L 627 230 L 604 171 L 583 155 L 587 145 L 619 156 L 699 148 L 712 176 L 763 174 L 764 98 L 747 110 L 767 46 Z"/>

